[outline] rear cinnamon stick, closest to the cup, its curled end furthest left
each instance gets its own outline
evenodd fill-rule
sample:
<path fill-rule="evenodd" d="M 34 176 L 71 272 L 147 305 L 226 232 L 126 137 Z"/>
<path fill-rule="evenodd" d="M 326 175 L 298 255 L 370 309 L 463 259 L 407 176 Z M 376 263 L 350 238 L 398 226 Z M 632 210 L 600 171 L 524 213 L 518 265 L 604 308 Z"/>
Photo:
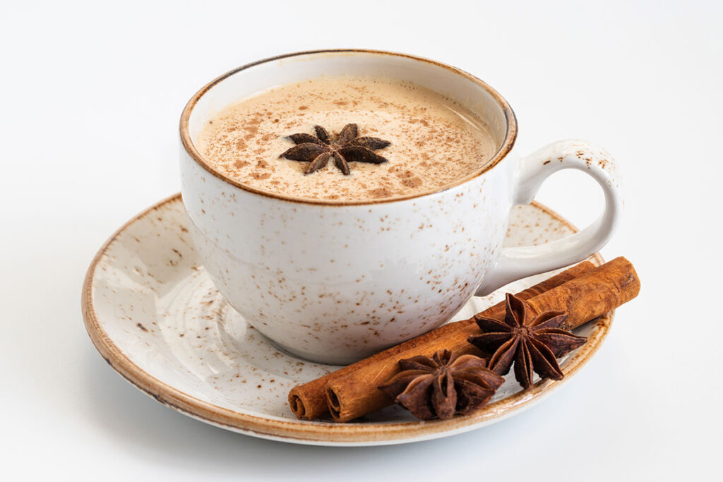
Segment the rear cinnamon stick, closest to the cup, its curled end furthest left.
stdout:
<path fill-rule="evenodd" d="M 594 269 L 594 264 L 589 261 L 576 264 L 576 266 L 570 267 L 568 270 L 560 272 L 560 274 L 553 277 L 549 277 L 547 280 L 538 283 L 531 288 L 518 293 L 517 296 L 523 300 L 529 300 L 534 296 L 544 293 L 545 291 L 551 290 L 563 283 L 572 280 L 575 277 L 583 275 L 583 273 L 589 272 Z M 482 314 L 485 317 L 492 317 L 494 314 L 503 313 L 505 311 L 505 302 L 501 301 L 483 311 Z M 291 406 L 291 410 L 296 414 L 298 418 L 306 418 L 307 420 L 314 420 L 315 418 L 321 418 L 328 414 L 328 402 L 326 395 L 326 387 L 328 384 L 333 382 L 335 379 L 339 379 L 346 374 L 360 373 L 359 370 L 365 369 L 366 367 L 385 367 L 380 369 L 380 379 L 382 382 L 390 378 L 397 371 L 397 362 L 402 358 L 410 358 L 419 353 L 434 353 L 436 350 L 442 348 L 458 347 L 458 349 L 470 349 L 475 350 L 473 345 L 467 343 L 467 337 L 472 333 L 476 332 L 476 324 L 474 318 L 465 319 L 459 322 L 453 322 L 445 324 L 442 327 L 427 332 L 416 338 L 412 338 L 400 345 L 395 345 L 387 350 L 383 350 L 380 353 L 376 353 L 369 358 L 357 361 L 351 365 L 345 366 L 342 369 L 333 371 L 330 374 L 321 376 L 311 382 L 297 385 L 291 389 L 288 394 L 288 404 Z M 372 389 L 377 392 L 376 385 Z M 380 392 L 381 395 L 383 395 Z M 377 403 L 387 402 L 383 397 Z"/>

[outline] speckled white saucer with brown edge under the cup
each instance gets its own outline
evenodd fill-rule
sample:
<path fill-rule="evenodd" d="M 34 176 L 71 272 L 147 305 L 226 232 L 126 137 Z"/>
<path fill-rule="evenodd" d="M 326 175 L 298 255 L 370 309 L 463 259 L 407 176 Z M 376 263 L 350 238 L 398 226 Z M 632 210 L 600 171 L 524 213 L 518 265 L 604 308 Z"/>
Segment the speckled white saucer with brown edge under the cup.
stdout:
<path fill-rule="evenodd" d="M 506 246 L 554 241 L 570 223 L 539 204 L 518 206 Z M 602 258 L 597 254 L 593 262 Z M 549 274 L 505 287 L 518 292 Z M 503 292 L 473 298 L 454 319 L 500 301 Z M 602 343 L 612 312 L 576 332 L 589 337 L 560 361 L 565 380 L 537 380 L 526 392 L 513 377 L 487 407 L 448 421 L 419 421 L 390 407 L 352 423 L 299 421 L 288 390 L 335 369 L 283 353 L 231 309 L 192 246 L 180 195 L 130 220 L 98 251 L 82 294 L 83 317 L 101 356 L 159 402 L 206 423 L 267 439 L 319 445 L 416 442 L 477 429 L 519 413 L 576 374 Z"/>

